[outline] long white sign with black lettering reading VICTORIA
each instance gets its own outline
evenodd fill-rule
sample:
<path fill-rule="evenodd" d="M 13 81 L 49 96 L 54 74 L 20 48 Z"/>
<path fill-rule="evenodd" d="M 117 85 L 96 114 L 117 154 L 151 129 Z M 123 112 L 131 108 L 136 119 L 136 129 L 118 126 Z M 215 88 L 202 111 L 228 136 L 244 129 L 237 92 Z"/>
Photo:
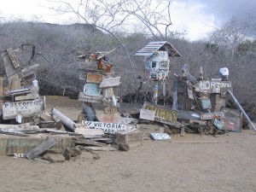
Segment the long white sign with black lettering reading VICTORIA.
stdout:
<path fill-rule="evenodd" d="M 102 123 L 96 121 L 83 120 L 82 123 L 90 129 L 100 129 L 106 133 L 115 133 L 120 131 L 129 131 L 133 129 L 132 125 L 121 125 L 115 123 Z"/>

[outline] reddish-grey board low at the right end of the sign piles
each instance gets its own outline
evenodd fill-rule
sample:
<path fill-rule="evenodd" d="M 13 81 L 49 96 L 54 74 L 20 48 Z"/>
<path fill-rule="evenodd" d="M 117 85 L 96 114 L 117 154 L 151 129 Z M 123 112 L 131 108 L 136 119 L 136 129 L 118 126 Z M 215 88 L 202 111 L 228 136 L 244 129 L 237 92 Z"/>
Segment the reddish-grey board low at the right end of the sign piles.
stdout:
<path fill-rule="evenodd" d="M 224 125 L 224 129 L 228 131 L 241 131 L 241 119 L 234 117 L 224 117 L 221 119 L 222 124 Z"/>

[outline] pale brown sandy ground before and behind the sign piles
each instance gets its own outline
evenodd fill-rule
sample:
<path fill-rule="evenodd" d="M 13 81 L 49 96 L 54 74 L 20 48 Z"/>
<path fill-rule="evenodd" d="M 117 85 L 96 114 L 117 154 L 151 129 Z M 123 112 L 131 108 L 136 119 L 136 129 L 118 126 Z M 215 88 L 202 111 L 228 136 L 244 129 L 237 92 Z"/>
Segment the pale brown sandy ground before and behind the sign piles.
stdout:
<path fill-rule="evenodd" d="M 75 100 L 46 101 L 71 119 L 81 111 Z M 256 134 L 246 130 L 144 140 L 128 152 L 97 152 L 99 160 L 84 151 L 54 164 L 0 156 L 0 191 L 256 191 L 255 146 Z"/>

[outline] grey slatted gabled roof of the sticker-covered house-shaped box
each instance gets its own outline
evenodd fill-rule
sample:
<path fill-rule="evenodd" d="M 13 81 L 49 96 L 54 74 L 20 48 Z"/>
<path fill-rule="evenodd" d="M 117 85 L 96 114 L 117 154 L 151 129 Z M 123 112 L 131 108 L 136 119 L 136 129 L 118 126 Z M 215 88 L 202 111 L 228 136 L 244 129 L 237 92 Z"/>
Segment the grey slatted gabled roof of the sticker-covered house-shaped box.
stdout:
<path fill-rule="evenodd" d="M 135 55 L 150 56 L 157 50 L 166 50 L 170 57 L 181 56 L 179 52 L 167 41 L 153 41 L 148 43 L 143 49 L 137 51 Z"/>

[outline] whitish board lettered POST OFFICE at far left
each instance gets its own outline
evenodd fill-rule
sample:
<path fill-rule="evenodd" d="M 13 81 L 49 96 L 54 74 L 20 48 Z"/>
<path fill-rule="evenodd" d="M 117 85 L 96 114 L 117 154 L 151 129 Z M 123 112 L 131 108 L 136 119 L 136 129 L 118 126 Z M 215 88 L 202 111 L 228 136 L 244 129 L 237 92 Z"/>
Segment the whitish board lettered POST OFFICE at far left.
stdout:
<path fill-rule="evenodd" d="M 20 114 L 22 117 L 32 117 L 44 111 L 44 101 L 37 99 L 26 102 L 3 103 L 3 119 L 15 119 Z"/>

